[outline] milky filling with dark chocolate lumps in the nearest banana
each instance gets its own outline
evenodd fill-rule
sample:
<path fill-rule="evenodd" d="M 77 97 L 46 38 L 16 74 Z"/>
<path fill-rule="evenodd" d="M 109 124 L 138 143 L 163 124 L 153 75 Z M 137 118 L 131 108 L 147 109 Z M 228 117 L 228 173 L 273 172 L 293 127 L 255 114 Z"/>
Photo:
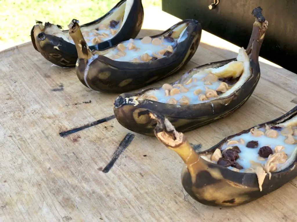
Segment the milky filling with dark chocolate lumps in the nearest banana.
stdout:
<path fill-rule="evenodd" d="M 275 126 L 252 128 L 202 157 L 230 170 L 256 173 L 262 190 L 266 174 L 271 178 L 272 172 L 283 170 L 296 160 L 297 117 Z"/>

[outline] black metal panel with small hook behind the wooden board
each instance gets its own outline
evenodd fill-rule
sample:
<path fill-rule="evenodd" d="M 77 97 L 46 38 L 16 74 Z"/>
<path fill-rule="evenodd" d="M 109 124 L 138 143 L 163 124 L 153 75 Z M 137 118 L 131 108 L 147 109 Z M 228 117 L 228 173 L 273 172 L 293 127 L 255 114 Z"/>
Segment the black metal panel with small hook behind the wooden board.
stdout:
<path fill-rule="evenodd" d="M 197 19 L 202 28 L 238 46 L 246 47 L 252 32 L 251 15 L 263 9 L 268 30 L 260 56 L 297 73 L 297 0 L 162 0 L 162 10 L 180 19 Z"/>

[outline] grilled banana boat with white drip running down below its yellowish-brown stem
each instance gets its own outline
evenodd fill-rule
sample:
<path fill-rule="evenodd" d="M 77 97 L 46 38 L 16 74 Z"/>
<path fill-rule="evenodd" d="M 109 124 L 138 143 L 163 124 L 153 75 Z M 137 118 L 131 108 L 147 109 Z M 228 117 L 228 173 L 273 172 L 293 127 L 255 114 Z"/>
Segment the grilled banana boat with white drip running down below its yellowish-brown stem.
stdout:
<path fill-rule="evenodd" d="M 69 24 L 78 51 L 78 79 L 90 89 L 108 93 L 139 89 L 179 70 L 195 54 L 201 31 L 198 21 L 183 20 L 159 35 L 91 51 L 77 21 Z"/>

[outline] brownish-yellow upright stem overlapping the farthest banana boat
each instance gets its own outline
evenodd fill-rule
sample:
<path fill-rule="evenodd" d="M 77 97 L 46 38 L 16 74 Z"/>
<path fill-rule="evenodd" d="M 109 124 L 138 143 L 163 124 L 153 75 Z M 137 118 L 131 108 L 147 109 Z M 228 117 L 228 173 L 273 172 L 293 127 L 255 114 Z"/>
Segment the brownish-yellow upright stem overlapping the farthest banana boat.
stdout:
<path fill-rule="evenodd" d="M 69 35 L 74 41 L 78 58 L 79 59 L 90 59 L 92 57 L 91 50 L 87 45 L 85 39 L 83 38 L 83 34 L 81 33 L 80 26 L 78 25 L 78 20 L 72 19 L 69 27 Z"/>

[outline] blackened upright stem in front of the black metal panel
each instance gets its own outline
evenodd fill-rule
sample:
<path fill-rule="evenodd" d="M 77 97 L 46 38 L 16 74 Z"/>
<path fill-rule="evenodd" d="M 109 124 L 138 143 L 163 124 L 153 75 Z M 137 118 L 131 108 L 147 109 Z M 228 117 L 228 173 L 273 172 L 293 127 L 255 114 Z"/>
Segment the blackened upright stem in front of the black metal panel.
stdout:
<path fill-rule="evenodd" d="M 253 59 L 257 59 L 268 28 L 268 21 L 262 15 L 261 7 L 253 9 L 252 15 L 255 17 L 255 22 L 246 52 L 247 54 L 251 53 L 251 57 L 253 57 Z"/>

